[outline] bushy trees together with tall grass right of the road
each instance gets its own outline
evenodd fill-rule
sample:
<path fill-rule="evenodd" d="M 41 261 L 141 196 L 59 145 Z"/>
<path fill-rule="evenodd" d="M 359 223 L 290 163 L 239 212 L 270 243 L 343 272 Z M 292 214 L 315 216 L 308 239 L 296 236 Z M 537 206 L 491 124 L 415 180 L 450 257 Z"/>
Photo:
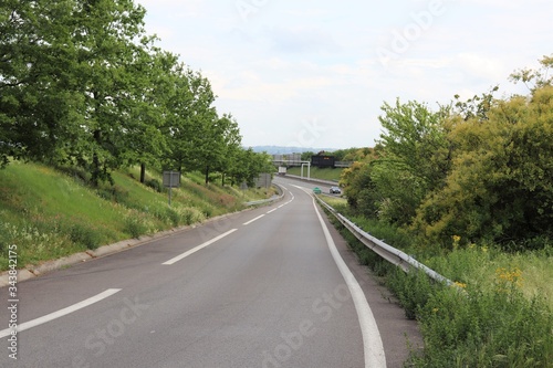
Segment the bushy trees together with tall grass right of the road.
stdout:
<path fill-rule="evenodd" d="M 553 365 L 553 57 L 541 64 L 512 75 L 528 96 L 385 103 L 377 146 L 343 171 L 331 206 L 455 282 L 344 234 L 419 322 L 425 348 L 406 367 Z"/>

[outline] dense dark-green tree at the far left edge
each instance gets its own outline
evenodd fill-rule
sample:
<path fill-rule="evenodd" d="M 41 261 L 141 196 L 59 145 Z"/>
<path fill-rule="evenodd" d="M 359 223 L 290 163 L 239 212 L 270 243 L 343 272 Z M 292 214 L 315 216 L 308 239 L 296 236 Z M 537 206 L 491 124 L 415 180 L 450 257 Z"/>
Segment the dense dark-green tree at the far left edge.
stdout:
<path fill-rule="evenodd" d="M 67 160 L 83 124 L 75 94 L 73 1 L 13 1 L 0 7 L 0 161 Z"/>

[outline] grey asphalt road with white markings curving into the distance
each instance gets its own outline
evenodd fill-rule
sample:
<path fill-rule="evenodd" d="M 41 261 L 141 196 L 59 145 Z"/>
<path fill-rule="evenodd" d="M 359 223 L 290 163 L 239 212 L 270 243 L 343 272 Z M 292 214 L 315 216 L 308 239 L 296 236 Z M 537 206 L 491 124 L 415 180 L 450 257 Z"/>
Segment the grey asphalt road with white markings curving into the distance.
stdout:
<path fill-rule="evenodd" d="M 2 288 L 0 367 L 401 367 L 416 324 L 313 186 L 276 181 L 274 204 Z"/>

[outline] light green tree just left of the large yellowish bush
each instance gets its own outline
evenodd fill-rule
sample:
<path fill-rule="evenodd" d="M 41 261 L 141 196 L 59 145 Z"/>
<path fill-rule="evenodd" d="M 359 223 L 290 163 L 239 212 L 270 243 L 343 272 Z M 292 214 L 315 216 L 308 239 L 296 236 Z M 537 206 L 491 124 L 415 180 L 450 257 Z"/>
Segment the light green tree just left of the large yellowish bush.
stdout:
<path fill-rule="evenodd" d="M 372 180 L 383 198 L 383 220 L 407 224 L 426 194 L 442 185 L 450 170 L 451 147 L 446 139 L 444 120 L 449 107 L 437 113 L 424 104 L 387 103 L 379 117 L 379 158 L 375 160 Z"/>

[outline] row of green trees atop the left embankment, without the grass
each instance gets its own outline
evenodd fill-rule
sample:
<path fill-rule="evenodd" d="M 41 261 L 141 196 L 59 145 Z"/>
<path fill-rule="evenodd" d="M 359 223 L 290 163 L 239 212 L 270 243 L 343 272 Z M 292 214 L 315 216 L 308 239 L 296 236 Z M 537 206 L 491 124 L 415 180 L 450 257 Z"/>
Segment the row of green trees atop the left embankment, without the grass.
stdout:
<path fill-rule="evenodd" d="M 0 166 L 85 169 L 93 185 L 140 164 L 230 171 L 246 158 L 201 73 L 160 50 L 133 0 L 6 0 L 0 7 Z"/>

